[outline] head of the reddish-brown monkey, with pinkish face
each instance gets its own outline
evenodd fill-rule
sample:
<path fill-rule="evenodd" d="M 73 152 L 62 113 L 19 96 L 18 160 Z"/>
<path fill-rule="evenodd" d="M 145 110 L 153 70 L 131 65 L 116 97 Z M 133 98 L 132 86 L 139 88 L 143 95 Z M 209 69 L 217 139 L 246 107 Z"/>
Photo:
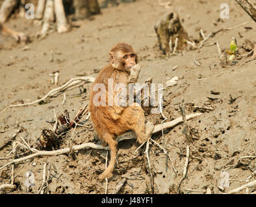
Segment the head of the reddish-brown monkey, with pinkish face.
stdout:
<path fill-rule="evenodd" d="M 115 69 L 130 72 L 131 67 L 138 63 L 138 57 L 131 45 L 117 43 L 110 50 L 110 63 Z"/>

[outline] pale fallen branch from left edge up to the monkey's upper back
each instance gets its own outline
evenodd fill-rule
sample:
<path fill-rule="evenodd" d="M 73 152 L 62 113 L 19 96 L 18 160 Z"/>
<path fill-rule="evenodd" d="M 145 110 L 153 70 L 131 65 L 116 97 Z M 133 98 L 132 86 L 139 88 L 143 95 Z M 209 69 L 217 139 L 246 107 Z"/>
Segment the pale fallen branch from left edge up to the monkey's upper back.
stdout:
<path fill-rule="evenodd" d="M 12 108 L 12 107 L 21 107 L 21 106 L 27 106 L 27 105 L 34 105 L 36 103 L 42 102 L 45 100 L 45 98 L 47 98 L 48 96 L 53 96 L 57 93 L 63 93 L 64 91 L 66 91 L 67 89 L 69 89 L 71 86 L 72 87 L 77 87 L 77 85 L 80 85 L 81 82 L 86 82 L 86 83 L 90 83 L 90 82 L 94 82 L 95 78 L 92 77 L 79 77 L 79 78 L 71 78 L 67 83 L 65 83 L 64 85 L 57 87 L 51 91 L 49 91 L 49 93 L 47 93 L 43 98 L 40 98 L 38 100 L 35 100 L 34 102 L 30 102 L 30 103 L 21 103 L 21 104 L 16 104 L 16 105 L 8 105 L 8 107 L 6 107 L 5 109 L 3 109 L 3 111 L 1 111 L 0 113 L 3 113 L 4 111 L 6 111 L 6 109 L 8 108 Z M 84 84 L 84 83 L 82 83 Z"/>

